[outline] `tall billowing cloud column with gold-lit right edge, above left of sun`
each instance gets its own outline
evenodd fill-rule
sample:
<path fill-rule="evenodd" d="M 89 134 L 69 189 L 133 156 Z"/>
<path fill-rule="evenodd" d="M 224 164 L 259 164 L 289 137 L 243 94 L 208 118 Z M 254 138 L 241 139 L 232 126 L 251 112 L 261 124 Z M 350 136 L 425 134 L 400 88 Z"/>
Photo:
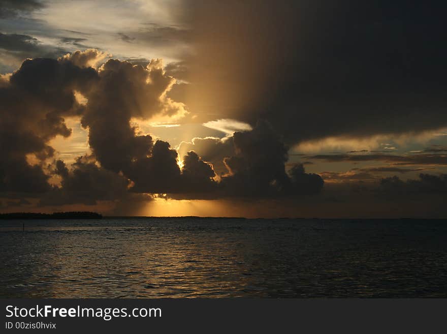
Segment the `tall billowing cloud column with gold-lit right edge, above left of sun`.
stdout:
<path fill-rule="evenodd" d="M 89 129 L 89 144 L 101 165 L 126 173 L 135 169 L 133 162 L 145 159 L 152 148 L 152 138 L 137 135 L 131 118 L 173 115 L 183 106 L 164 98 L 174 79 L 165 75 L 158 60 L 144 68 L 110 59 L 101 67 L 99 77 L 88 95 L 81 122 Z"/>

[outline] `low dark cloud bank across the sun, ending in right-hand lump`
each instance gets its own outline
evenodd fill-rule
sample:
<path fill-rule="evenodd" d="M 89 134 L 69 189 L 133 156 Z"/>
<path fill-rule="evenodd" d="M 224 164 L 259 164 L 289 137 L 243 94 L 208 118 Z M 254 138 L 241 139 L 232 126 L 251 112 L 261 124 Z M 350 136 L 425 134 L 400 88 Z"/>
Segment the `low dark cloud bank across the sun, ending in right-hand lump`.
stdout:
<path fill-rule="evenodd" d="M 305 173 L 303 165 L 294 165 L 286 172 L 287 151 L 271 127 L 259 122 L 251 131 L 236 132 L 230 138 L 182 142 L 180 159 L 167 142 L 158 140 L 148 157 L 134 161 L 131 171 L 124 174 L 135 183 L 131 191 L 166 193 L 176 199 L 318 194 L 324 184 L 319 175 Z M 214 161 L 222 158 L 226 173 L 216 179 Z M 207 163 L 210 161 L 212 165 Z"/>

